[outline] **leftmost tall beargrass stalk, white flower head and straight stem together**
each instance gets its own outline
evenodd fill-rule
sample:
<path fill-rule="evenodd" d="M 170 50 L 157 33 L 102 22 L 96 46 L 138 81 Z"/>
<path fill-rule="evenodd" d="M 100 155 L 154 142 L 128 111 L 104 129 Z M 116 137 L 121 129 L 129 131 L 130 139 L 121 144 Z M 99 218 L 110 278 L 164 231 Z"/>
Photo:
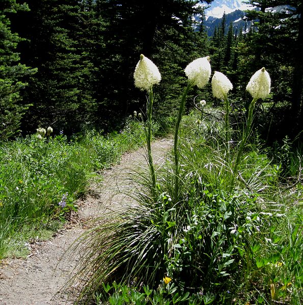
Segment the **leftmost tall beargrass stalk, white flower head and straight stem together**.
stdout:
<path fill-rule="evenodd" d="M 152 141 L 152 108 L 154 101 L 153 85 L 159 84 L 161 80 L 161 74 L 157 66 L 143 54 L 140 55 L 140 61 L 137 63 L 134 73 L 134 85 L 140 90 L 146 90 L 148 93 L 147 98 L 147 154 L 148 164 L 152 179 L 153 191 L 156 189 L 156 175 L 151 154 L 151 141 Z"/>

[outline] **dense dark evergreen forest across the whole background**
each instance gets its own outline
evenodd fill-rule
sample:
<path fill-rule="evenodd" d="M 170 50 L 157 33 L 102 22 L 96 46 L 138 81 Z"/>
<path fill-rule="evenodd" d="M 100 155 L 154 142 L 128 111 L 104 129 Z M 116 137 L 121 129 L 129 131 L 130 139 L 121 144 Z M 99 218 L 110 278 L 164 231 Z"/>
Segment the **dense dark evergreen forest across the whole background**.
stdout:
<path fill-rule="evenodd" d="M 145 96 L 133 88 L 132 75 L 141 53 L 161 67 L 154 116 L 163 124 L 177 108 L 186 64 L 209 55 L 213 71 L 225 73 L 234 84 L 235 119 L 245 115 L 249 75 L 264 66 L 272 94 L 258 105 L 267 109 L 258 117 L 260 133 L 274 140 L 297 135 L 303 122 L 302 2 L 250 0 L 258 8 L 247 13 L 250 28 L 234 30 L 223 17 L 213 37 L 204 31 L 204 12 L 197 3 L 2 1 L 1 138 L 40 126 L 51 126 L 55 134 L 118 130 L 134 110 L 144 108 Z M 278 5 L 291 9 L 269 9 Z M 201 23 L 192 23 L 194 14 L 201 14 Z M 210 93 L 204 95 L 210 104 L 219 104 Z M 186 109 L 192 106 L 188 99 Z"/>

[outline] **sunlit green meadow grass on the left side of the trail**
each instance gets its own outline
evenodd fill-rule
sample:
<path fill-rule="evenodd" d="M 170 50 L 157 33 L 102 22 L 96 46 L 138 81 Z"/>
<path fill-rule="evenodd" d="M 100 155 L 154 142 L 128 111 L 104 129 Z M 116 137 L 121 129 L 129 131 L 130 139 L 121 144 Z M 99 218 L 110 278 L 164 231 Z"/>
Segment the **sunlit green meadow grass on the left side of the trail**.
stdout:
<path fill-rule="evenodd" d="M 0 144 L 0 259 L 24 257 L 29 241 L 48 239 L 84 195 L 90 178 L 145 143 L 130 119 L 121 132 L 97 131 L 68 139 L 37 134 Z"/>

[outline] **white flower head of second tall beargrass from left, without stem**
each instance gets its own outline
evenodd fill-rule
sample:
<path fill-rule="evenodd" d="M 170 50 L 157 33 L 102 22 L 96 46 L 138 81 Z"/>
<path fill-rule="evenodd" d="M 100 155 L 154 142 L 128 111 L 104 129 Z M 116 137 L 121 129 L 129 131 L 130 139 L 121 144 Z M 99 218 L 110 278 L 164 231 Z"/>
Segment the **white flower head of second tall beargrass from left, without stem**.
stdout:
<path fill-rule="evenodd" d="M 211 74 L 209 56 L 192 61 L 185 68 L 185 74 L 193 85 L 203 88 L 208 83 Z"/>

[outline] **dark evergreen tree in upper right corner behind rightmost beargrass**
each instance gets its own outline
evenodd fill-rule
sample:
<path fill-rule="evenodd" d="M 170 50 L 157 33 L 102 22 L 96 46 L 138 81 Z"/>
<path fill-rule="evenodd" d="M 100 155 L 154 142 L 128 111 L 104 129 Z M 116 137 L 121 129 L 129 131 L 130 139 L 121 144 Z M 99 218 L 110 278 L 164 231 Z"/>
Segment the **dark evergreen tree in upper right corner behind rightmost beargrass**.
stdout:
<path fill-rule="evenodd" d="M 299 119 L 302 104 L 302 1 L 297 0 L 259 0 L 249 1 L 260 8 L 250 11 L 250 19 L 255 22 L 258 31 L 247 42 L 250 45 L 252 66 L 267 66 L 271 72 L 273 100 L 291 104 L 291 125 Z M 278 7 L 277 9 L 272 9 Z M 281 9 L 284 8 L 284 9 Z M 254 64 L 253 64 L 254 63 Z M 301 117 L 303 118 L 303 111 Z M 299 129 L 302 126 L 299 127 Z"/>

